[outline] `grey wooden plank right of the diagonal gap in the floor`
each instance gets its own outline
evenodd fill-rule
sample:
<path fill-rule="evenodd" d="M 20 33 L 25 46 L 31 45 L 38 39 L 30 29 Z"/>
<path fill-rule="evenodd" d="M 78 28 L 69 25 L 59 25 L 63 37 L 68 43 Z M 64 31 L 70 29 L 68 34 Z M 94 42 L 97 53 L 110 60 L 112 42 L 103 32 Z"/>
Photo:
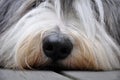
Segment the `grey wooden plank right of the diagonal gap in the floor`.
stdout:
<path fill-rule="evenodd" d="M 63 74 L 76 80 L 120 80 L 120 71 L 65 71 Z"/>

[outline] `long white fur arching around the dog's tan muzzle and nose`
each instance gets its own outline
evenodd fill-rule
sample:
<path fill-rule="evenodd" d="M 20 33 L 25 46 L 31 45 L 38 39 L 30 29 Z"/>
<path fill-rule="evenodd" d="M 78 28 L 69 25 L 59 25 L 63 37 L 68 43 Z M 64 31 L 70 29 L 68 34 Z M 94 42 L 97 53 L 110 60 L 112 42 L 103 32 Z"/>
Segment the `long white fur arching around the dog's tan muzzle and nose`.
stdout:
<path fill-rule="evenodd" d="M 46 32 L 52 31 L 57 26 L 62 33 L 71 38 L 74 44 L 72 54 L 61 61 L 62 64 L 74 67 L 72 65 L 74 57 L 78 54 L 82 55 L 78 46 L 83 46 L 84 51 L 92 53 L 97 67 L 103 70 L 119 69 L 119 47 L 105 31 L 101 0 L 95 2 L 98 5 L 100 22 L 95 19 L 90 0 L 75 0 L 73 7 L 76 12 L 65 15 L 68 16 L 67 19 L 64 19 L 64 14 L 61 14 L 59 0 L 52 1 L 54 5 L 46 1 L 29 11 L 0 38 L 0 63 L 7 68 L 18 67 L 17 50 L 23 40 L 29 35 L 36 36 L 39 33 L 42 40 Z M 82 45 L 82 42 L 87 45 L 87 48 Z"/>

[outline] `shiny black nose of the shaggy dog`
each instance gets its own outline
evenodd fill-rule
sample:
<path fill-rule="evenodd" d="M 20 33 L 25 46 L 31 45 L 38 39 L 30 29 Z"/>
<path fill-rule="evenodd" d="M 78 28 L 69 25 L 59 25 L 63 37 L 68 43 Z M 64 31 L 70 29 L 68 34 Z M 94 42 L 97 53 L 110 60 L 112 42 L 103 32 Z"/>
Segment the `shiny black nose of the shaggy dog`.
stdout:
<path fill-rule="evenodd" d="M 43 39 L 44 54 L 52 60 L 65 59 L 72 51 L 73 44 L 69 38 L 49 35 Z"/>

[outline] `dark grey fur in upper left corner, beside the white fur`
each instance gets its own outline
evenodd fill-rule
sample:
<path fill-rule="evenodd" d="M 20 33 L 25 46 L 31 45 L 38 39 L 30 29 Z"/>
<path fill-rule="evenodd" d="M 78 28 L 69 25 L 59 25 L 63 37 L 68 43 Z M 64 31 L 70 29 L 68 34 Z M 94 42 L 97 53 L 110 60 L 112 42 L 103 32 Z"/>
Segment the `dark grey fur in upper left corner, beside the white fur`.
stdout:
<path fill-rule="evenodd" d="M 29 0 L 1 0 L 0 1 L 0 33 L 17 22 L 27 11 L 38 6 L 44 0 L 33 0 L 32 3 L 27 4 Z M 26 2 L 27 7 L 23 11 L 19 11 L 19 8 Z M 26 5 L 24 5 L 26 6 Z"/>

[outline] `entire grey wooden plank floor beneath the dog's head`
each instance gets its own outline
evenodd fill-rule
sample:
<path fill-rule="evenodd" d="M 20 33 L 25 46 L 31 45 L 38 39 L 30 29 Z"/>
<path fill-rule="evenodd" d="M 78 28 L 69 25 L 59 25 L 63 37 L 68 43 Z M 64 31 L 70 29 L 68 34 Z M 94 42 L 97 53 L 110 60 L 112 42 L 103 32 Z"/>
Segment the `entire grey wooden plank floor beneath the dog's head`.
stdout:
<path fill-rule="evenodd" d="M 0 80 L 120 80 L 120 71 L 18 71 L 0 69 Z"/>

